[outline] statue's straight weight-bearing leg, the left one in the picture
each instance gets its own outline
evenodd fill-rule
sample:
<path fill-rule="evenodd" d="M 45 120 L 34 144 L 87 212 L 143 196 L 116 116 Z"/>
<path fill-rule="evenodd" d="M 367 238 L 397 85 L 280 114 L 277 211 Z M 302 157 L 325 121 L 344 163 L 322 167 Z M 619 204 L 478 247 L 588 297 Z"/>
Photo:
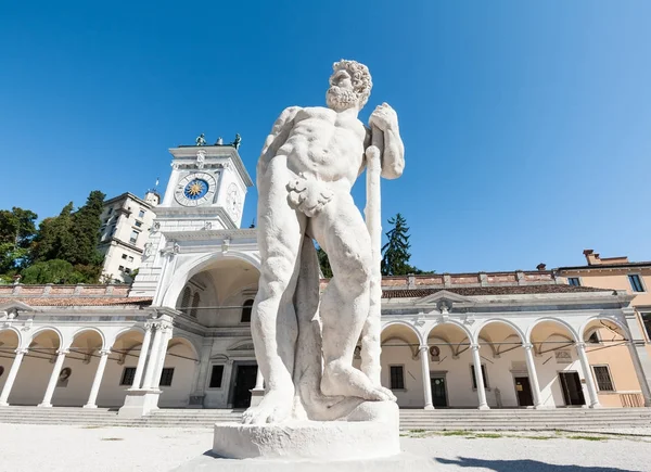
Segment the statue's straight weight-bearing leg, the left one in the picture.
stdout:
<path fill-rule="evenodd" d="M 264 177 L 258 181 L 261 269 L 251 333 L 258 368 L 265 378 L 265 396 L 258 406 L 244 413 L 245 423 L 286 419 L 294 397 L 297 321 L 293 295 L 306 217 L 288 204 L 286 183 L 291 176 L 284 156 L 275 157 Z"/>

